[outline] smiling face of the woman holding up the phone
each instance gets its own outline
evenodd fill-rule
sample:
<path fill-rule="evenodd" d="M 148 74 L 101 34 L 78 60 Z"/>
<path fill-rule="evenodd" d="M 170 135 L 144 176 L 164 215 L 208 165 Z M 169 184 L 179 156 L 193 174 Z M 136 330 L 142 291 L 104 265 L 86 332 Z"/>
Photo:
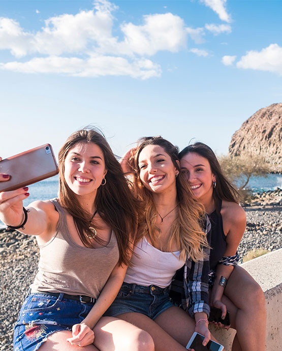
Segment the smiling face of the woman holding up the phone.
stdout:
<path fill-rule="evenodd" d="M 65 179 L 77 195 L 94 196 L 107 170 L 102 150 L 93 142 L 77 143 L 65 160 Z"/>

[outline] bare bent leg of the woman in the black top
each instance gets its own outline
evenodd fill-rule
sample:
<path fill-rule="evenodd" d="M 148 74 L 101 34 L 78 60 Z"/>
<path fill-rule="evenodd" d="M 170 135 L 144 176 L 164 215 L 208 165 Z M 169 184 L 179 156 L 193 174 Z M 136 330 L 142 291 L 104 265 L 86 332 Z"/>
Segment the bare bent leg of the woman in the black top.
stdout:
<path fill-rule="evenodd" d="M 235 329 L 241 350 L 264 351 L 266 308 L 260 285 L 242 267 L 236 266 L 224 294 L 238 308 Z"/>

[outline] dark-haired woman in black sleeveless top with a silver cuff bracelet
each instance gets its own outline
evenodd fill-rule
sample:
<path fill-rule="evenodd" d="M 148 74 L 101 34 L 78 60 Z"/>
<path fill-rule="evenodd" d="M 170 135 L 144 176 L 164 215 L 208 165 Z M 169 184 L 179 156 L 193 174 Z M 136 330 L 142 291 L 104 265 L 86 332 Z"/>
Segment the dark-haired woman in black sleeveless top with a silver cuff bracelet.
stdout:
<path fill-rule="evenodd" d="M 181 172 L 202 202 L 211 222 L 210 304 L 230 311 L 237 330 L 232 351 L 265 349 L 266 309 L 260 285 L 237 266 L 237 247 L 246 226 L 238 192 L 226 179 L 213 151 L 196 142 L 179 154 Z M 227 327 L 228 328 L 228 327 Z"/>

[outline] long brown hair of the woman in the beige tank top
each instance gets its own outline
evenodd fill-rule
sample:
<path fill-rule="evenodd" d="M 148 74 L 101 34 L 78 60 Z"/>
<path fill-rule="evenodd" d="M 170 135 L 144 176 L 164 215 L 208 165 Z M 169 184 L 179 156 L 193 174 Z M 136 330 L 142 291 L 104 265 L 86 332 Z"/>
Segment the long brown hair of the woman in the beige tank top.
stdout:
<path fill-rule="evenodd" d="M 82 208 L 76 194 L 69 188 L 65 174 L 65 159 L 77 143 L 95 143 L 100 147 L 105 159 L 106 184 L 97 189 L 95 207 L 100 217 L 114 231 L 119 249 L 119 264 L 129 265 L 130 242 L 137 230 L 138 200 L 129 189 L 128 181 L 115 158 L 105 136 L 96 128 L 87 127 L 68 137 L 59 151 L 59 202 L 73 216 L 82 243 L 91 247 L 89 233 L 91 215 Z M 95 225 L 95 224 L 94 224 Z M 98 226 L 96 226 L 98 227 Z M 91 233 L 91 232 L 90 232 Z M 102 243 L 98 236 L 94 239 Z"/>

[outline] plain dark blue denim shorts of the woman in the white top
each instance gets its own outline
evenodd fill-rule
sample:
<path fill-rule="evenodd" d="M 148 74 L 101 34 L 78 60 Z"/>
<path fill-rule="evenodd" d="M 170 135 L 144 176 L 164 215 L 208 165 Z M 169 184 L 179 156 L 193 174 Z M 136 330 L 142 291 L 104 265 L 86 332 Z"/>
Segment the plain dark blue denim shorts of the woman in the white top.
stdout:
<path fill-rule="evenodd" d="M 104 316 L 116 317 L 122 313 L 138 312 L 154 319 L 172 306 L 175 304 L 169 297 L 167 287 L 123 283 Z"/>

